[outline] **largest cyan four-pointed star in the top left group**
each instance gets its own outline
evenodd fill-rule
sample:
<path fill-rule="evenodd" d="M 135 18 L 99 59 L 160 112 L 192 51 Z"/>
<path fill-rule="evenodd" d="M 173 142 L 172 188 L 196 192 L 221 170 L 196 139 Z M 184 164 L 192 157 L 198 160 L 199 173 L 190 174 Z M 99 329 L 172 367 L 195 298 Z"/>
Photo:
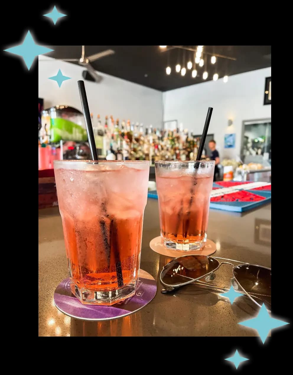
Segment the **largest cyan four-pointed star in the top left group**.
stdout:
<path fill-rule="evenodd" d="M 54 49 L 43 47 L 36 44 L 33 40 L 33 37 L 31 36 L 30 30 L 28 30 L 27 35 L 25 36 L 22 44 L 15 47 L 4 49 L 4 51 L 22 56 L 25 65 L 27 66 L 27 69 L 30 70 L 30 67 L 33 64 L 34 58 L 36 56 L 54 51 Z"/>

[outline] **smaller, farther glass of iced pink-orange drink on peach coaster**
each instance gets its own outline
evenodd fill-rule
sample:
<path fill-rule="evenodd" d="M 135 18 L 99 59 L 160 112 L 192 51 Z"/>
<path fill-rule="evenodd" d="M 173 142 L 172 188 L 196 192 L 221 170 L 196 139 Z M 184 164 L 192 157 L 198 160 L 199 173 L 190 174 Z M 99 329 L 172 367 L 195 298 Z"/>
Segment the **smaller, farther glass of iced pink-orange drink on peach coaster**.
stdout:
<path fill-rule="evenodd" d="M 173 250 L 200 250 L 206 242 L 214 161 L 157 161 L 160 231 Z"/>

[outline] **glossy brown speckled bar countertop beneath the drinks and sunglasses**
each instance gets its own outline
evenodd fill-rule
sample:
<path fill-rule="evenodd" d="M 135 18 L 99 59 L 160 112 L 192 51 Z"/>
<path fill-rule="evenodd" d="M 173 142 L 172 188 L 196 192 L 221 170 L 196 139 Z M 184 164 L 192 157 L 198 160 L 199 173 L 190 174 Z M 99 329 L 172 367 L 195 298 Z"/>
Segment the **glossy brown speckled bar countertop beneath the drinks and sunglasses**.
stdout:
<path fill-rule="evenodd" d="M 260 230 L 262 228 L 262 230 Z M 208 239 L 216 243 L 216 257 L 271 267 L 271 204 L 248 213 L 210 210 Z M 144 215 L 141 269 L 159 279 L 171 260 L 149 248 L 160 235 L 158 201 L 148 199 Z M 232 266 L 216 271 L 218 284 L 230 287 Z M 256 316 L 258 308 L 241 296 L 228 299 L 196 285 L 175 294 L 161 294 L 157 282 L 154 299 L 136 313 L 109 321 L 83 321 L 58 311 L 53 295 L 68 277 L 63 230 L 58 207 L 39 210 L 39 336 L 256 336 L 253 329 L 237 324 Z"/>

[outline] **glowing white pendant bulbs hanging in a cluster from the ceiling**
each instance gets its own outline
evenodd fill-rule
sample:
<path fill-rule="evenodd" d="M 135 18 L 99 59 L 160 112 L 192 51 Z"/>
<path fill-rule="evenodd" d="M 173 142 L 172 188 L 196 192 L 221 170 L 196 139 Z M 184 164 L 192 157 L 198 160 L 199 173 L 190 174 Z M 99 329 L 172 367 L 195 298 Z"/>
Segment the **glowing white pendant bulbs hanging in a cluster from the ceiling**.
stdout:
<path fill-rule="evenodd" d="M 164 48 L 167 48 L 167 46 L 159 46 L 161 49 L 164 49 Z M 196 48 L 196 52 L 195 52 L 195 58 L 194 58 L 194 62 L 195 64 L 198 64 L 200 66 L 200 68 L 202 68 L 204 65 L 205 65 L 205 62 L 203 60 L 203 46 L 197 46 Z M 212 55 L 211 57 L 211 64 L 215 64 L 217 62 L 217 58 L 215 55 Z M 185 64 L 184 64 L 185 65 Z M 187 62 L 187 69 L 188 70 L 191 70 L 193 67 L 193 63 L 191 60 L 189 60 Z M 186 74 L 186 68 L 185 66 L 182 66 L 178 63 L 176 66 L 175 66 L 175 71 L 177 73 L 181 72 L 181 75 L 182 77 L 185 76 Z M 170 66 L 167 66 L 166 68 L 166 74 L 167 75 L 170 75 L 171 74 L 171 67 Z M 197 77 L 197 70 L 195 68 L 195 65 L 193 67 L 193 70 L 191 71 L 191 77 L 192 78 L 196 78 Z M 203 72 L 202 74 L 202 79 L 203 80 L 206 80 L 208 78 L 208 72 L 206 71 L 206 68 L 205 68 L 205 71 Z M 214 81 L 217 81 L 219 78 L 219 75 L 218 73 L 215 73 L 212 77 L 212 79 Z M 224 83 L 227 83 L 228 82 L 228 76 L 227 75 L 224 75 L 223 77 L 223 82 Z"/>

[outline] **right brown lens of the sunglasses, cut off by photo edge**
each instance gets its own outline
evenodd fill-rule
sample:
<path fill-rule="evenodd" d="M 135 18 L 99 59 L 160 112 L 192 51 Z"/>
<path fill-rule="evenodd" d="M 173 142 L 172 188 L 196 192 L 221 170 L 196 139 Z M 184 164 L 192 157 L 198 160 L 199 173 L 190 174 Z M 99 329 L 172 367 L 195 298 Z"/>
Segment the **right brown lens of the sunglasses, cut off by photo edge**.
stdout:
<path fill-rule="evenodd" d="M 260 266 L 241 264 L 235 267 L 233 275 L 251 297 L 255 295 L 263 299 L 262 297 L 271 296 L 271 270 Z"/>

